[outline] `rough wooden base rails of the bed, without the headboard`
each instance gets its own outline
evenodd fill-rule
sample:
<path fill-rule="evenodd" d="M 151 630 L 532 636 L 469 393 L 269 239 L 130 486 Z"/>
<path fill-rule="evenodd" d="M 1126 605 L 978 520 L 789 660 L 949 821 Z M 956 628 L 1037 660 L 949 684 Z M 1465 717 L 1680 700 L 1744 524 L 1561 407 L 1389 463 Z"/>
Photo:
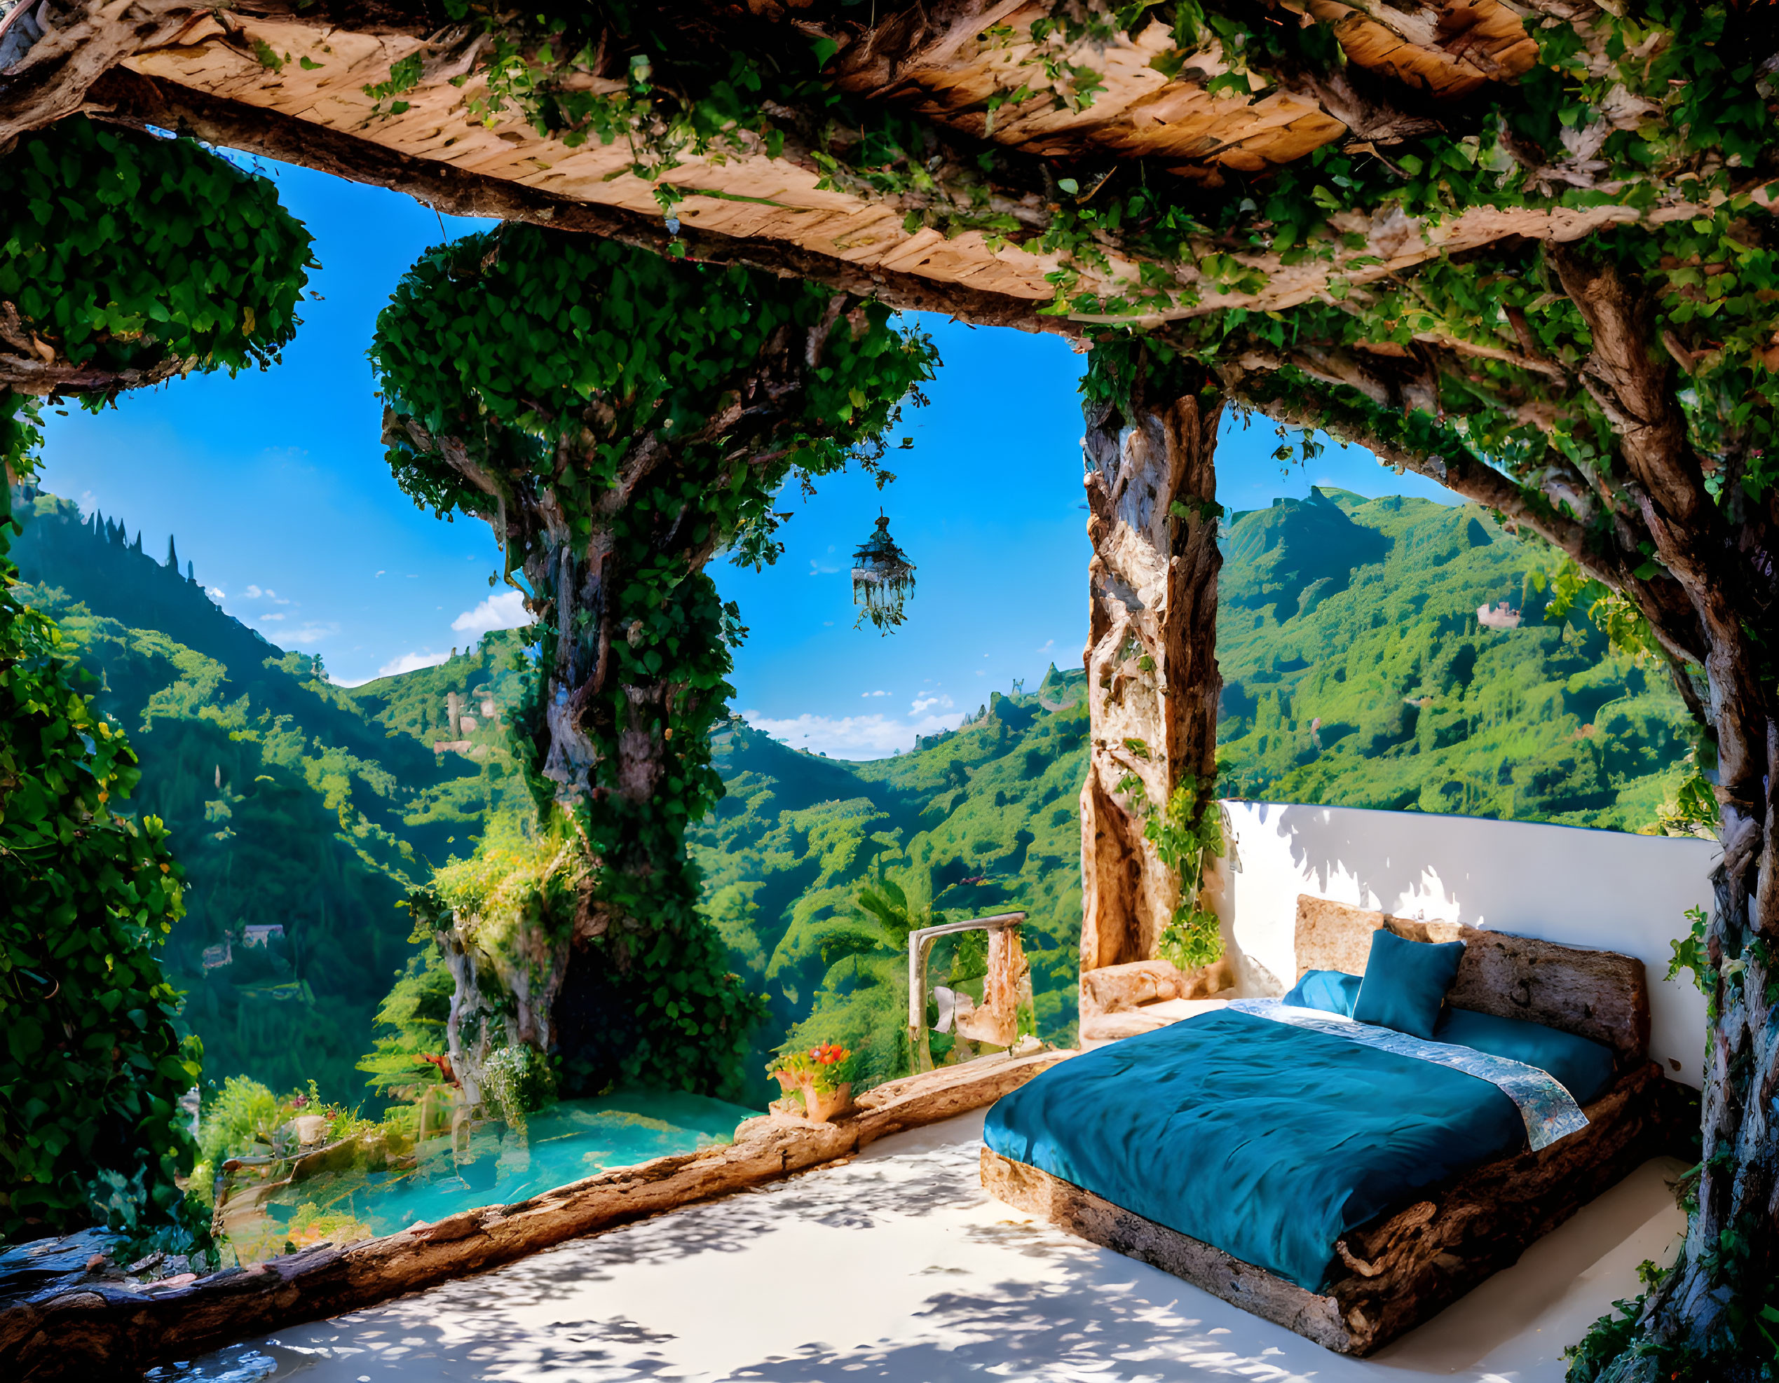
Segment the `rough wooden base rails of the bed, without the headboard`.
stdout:
<path fill-rule="evenodd" d="M 1427 1321 L 1674 1141 L 1685 1113 L 1646 1063 L 1587 1106 L 1589 1125 L 1425 1187 L 1354 1230 L 1329 1257 L 1345 1271 L 1309 1292 L 1092 1191 L 982 1148 L 982 1186 L 1069 1234 L 1185 1278 L 1340 1355 L 1370 1355 Z M 1156 1155 L 1163 1155 L 1156 1150 Z"/>

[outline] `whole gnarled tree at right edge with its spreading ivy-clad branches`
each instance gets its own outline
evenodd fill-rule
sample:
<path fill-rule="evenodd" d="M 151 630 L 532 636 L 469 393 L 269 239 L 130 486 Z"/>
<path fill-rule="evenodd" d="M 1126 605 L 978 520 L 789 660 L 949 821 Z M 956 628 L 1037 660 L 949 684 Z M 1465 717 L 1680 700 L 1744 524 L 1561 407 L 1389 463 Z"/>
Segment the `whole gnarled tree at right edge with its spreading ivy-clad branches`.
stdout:
<path fill-rule="evenodd" d="M 1710 235 L 1694 233 L 1717 252 Z M 1733 235 L 1759 268 L 1752 231 Z M 1694 956 L 1710 1004 L 1694 1212 L 1672 1271 L 1630 1317 L 1594 1328 L 1569 1376 L 1765 1383 L 1779 1371 L 1772 318 L 1765 308 L 1749 324 L 1694 315 L 1697 295 L 1678 272 L 1667 277 L 1685 256 L 1656 260 L 1647 249 L 1626 235 L 1548 251 L 1533 265 L 1542 283 L 1530 277 L 1516 290 L 1525 306 L 1509 304 L 1526 356 L 1500 379 L 1434 345 L 1388 356 L 1293 347 L 1290 336 L 1224 341 L 1220 377 L 1274 418 L 1325 427 L 1542 537 L 1574 564 L 1566 599 L 1585 590 L 1596 619 L 1667 658 L 1704 720 L 1701 768 L 1724 860 Z M 1546 315 L 1532 318 L 1533 309 Z M 1510 407 L 1478 407 L 1469 391 L 1491 388 Z M 1491 457 L 1491 444 L 1507 460 Z"/>

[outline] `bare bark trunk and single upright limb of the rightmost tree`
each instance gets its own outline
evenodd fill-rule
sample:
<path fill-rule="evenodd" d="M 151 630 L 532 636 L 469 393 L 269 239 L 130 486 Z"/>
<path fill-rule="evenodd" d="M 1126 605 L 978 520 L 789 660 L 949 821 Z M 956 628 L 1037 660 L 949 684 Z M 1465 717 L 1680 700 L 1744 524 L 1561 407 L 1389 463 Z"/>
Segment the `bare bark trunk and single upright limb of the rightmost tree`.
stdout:
<path fill-rule="evenodd" d="M 1740 466 L 1706 487 L 1678 398 L 1674 364 L 1660 348 L 1653 295 L 1582 252 L 1555 258 L 1564 292 L 1592 334 L 1583 382 L 1619 436 L 1624 485 L 1656 556 L 1686 592 L 1703 645 L 1708 720 L 1717 741 L 1717 802 L 1724 862 L 1706 931 L 1713 969 L 1704 1054 L 1699 1209 L 1679 1271 L 1642 1315 L 1658 1344 L 1715 1353 L 1727 1312 L 1758 1310 L 1779 1282 L 1779 718 L 1774 498 L 1742 487 Z M 1743 1326 L 1742 1330 L 1747 1330 Z M 1614 1376 L 1654 1378 L 1656 1362 L 1628 1356 Z"/>

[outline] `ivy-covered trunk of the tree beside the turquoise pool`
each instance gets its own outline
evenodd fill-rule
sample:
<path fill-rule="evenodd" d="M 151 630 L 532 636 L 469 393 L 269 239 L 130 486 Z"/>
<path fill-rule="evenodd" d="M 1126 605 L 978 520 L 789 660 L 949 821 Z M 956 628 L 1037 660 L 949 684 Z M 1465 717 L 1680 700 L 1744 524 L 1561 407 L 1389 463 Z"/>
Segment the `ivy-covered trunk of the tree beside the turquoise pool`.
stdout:
<path fill-rule="evenodd" d="M 779 354 L 802 352 L 783 343 Z M 753 384 L 783 391 L 788 380 L 761 370 Z M 685 960 L 697 974 L 687 951 L 699 944 L 690 935 L 699 891 L 685 830 L 719 791 L 710 727 L 728 693 L 733 633 L 733 612 L 704 572 L 719 530 L 699 496 L 728 485 L 706 444 L 742 407 L 737 393 L 731 411 L 678 443 L 633 439 L 612 487 L 589 484 L 600 471 L 591 434 L 585 450 L 559 444 L 553 476 L 498 476 L 457 439 L 432 439 L 393 412 L 386 420 L 416 446 L 436 446 L 487 496 L 482 516 L 502 549 L 523 558 L 541 644 L 523 757 L 543 830 L 562 823 L 578 855 L 559 875 L 573 885 L 562 915 L 539 910 L 537 924 L 502 947 L 466 946 L 463 928 L 439 919 L 459 981 L 452 1061 L 471 1099 L 487 1084 L 489 1054 L 521 1042 L 557 1051 L 571 1090 L 608 1084 L 635 1036 L 623 995 L 640 978 L 642 953 L 656 951 L 656 967 Z"/>

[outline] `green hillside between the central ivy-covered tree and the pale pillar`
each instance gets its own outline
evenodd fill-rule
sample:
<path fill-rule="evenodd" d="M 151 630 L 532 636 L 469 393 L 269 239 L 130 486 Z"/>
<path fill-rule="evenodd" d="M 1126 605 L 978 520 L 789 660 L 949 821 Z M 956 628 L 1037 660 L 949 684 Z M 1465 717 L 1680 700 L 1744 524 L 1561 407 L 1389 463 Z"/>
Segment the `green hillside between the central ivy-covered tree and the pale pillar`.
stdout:
<path fill-rule="evenodd" d="M 1039 1031 L 1069 1035 L 1082 921 L 1083 681 L 1051 668 L 1037 695 L 994 693 L 930 748 L 877 763 L 792 750 L 738 720 L 717 736 L 728 796 L 692 832 L 690 850 L 704 875 L 704 914 L 772 1004 L 761 1063 L 817 1006 L 822 1035 L 849 1045 L 875 1036 L 882 1051 L 906 1024 L 902 999 L 859 994 L 873 976 L 829 935 L 877 875 L 904 889 L 911 910 L 1025 908 Z"/>

